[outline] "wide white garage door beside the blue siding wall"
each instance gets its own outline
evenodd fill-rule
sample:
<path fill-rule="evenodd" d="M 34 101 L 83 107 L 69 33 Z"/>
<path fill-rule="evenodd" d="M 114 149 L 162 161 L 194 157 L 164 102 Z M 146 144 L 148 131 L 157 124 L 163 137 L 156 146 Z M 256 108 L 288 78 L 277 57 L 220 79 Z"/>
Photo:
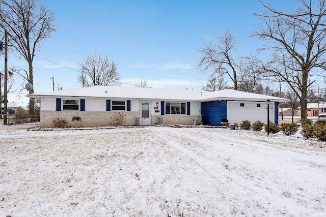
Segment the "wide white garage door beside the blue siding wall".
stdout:
<path fill-rule="evenodd" d="M 269 105 L 269 119 L 274 120 L 274 103 Z M 249 120 L 251 123 L 257 120 L 267 122 L 266 102 L 228 101 L 227 119 L 230 123 L 240 123 Z M 273 121 L 274 122 L 274 121 Z"/>

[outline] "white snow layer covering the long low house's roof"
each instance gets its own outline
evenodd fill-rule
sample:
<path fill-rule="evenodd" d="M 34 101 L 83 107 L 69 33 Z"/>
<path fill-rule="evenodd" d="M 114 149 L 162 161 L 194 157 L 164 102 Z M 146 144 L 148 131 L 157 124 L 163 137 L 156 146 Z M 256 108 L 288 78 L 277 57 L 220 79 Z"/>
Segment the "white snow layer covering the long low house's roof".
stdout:
<path fill-rule="evenodd" d="M 125 86 L 90 86 L 68 90 L 29 94 L 28 97 L 96 97 L 96 98 L 125 98 L 125 99 L 150 99 L 150 100 L 271 100 L 285 102 L 287 99 L 253 94 L 250 92 L 224 89 L 214 92 L 187 89 L 142 88 Z"/>

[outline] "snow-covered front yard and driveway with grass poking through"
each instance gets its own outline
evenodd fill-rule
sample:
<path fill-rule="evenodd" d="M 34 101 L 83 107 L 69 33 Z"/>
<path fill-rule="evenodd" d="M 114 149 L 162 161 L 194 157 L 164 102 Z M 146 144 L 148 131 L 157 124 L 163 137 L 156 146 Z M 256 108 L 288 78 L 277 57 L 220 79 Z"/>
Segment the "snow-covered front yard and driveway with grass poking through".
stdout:
<path fill-rule="evenodd" d="M 324 143 L 281 134 L 0 125 L 0 216 L 323 216 Z"/>

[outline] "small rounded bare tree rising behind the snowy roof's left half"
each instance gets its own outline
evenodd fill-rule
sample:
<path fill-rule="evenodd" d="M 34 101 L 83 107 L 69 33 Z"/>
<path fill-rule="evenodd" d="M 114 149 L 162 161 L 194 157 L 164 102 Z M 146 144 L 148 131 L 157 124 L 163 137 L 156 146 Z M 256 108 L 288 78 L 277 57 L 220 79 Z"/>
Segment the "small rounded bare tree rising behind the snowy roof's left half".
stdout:
<path fill-rule="evenodd" d="M 115 61 L 108 60 L 96 52 L 93 56 L 87 55 L 84 63 L 79 63 L 80 75 L 78 81 L 85 86 L 107 85 L 114 86 L 120 84 L 120 74 Z"/>

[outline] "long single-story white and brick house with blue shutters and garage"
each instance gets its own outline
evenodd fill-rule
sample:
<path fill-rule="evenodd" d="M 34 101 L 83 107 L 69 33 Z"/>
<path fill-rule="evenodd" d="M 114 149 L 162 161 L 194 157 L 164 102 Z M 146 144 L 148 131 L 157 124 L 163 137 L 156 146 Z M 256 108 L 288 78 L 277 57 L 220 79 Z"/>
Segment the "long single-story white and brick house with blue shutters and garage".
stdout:
<path fill-rule="evenodd" d="M 156 89 L 123 86 L 90 86 L 29 94 L 41 100 L 41 127 L 52 127 L 53 120 L 63 118 L 73 126 L 72 118 L 79 116 L 83 127 L 114 125 L 117 115 L 123 125 L 154 126 L 157 123 L 221 126 L 242 120 L 278 123 L 279 103 L 286 99 L 224 89 L 215 92 L 185 89 Z"/>

